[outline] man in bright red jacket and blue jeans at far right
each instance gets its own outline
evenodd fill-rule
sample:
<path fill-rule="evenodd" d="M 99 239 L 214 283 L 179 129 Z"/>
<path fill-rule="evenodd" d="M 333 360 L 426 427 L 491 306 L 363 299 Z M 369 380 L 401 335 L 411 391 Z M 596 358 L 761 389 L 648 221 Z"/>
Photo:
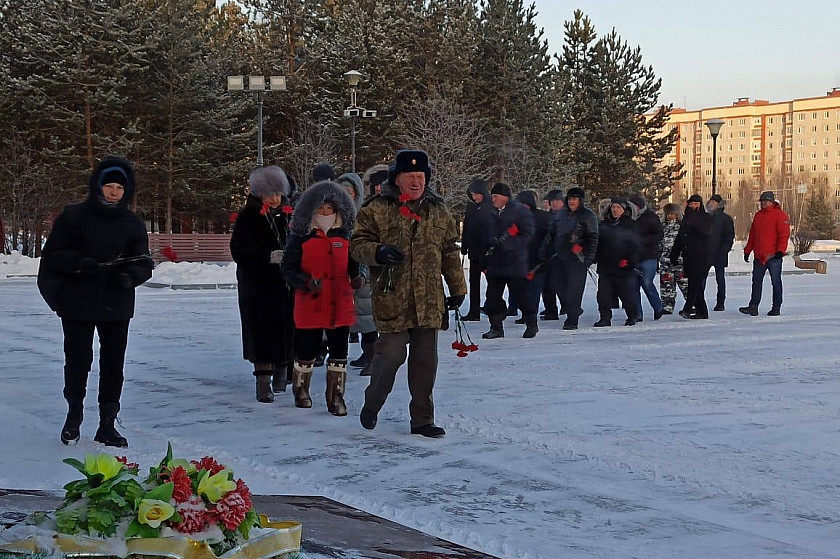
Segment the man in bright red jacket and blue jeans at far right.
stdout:
<path fill-rule="evenodd" d="M 762 192 L 758 203 L 761 209 L 753 217 L 750 236 L 747 246 L 744 247 L 744 262 L 749 262 L 750 252 L 753 253 L 752 295 L 750 304 L 738 310 L 750 316 L 758 315 L 764 273 L 770 272 L 773 307 L 767 316 L 779 316 L 782 307 L 782 258 L 787 251 L 787 241 L 790 237 L 790 220 L 771 191 Z"/>

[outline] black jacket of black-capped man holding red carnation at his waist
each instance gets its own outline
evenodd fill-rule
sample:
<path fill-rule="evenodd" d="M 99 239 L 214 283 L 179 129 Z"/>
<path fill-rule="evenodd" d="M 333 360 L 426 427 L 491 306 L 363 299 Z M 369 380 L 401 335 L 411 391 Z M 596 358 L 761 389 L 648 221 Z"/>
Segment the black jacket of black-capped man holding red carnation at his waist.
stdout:
<path fill-rule="evenodd" d="M 554 214 L 540 257 L 543 260 L 557 258 L 561 262 L 579 260 L 572 252 L 572 247 L 579 244 L 583 247 L 583 265 L 589 267 L 598 252 L 598 234 L 598 218 L 592 210 L 583 204 L 576 211 L 565 206 Z"/>

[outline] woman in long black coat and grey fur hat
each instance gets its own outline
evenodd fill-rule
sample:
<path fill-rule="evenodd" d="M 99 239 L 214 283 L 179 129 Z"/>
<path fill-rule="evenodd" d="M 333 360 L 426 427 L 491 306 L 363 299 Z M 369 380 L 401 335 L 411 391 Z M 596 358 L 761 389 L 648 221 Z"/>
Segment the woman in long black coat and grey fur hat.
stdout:
<path fill-rule="evenodd" d="M 257 400 L 270 403 L 274 392 L 286 390 L 294 357 L 293 296 L 280 273 L 291 219 L 289 181 L 280 167 L 260 167 L 251 172 L 249 189 L 230 253 L 236 262 L 242 355 L 254 364 Z"/>

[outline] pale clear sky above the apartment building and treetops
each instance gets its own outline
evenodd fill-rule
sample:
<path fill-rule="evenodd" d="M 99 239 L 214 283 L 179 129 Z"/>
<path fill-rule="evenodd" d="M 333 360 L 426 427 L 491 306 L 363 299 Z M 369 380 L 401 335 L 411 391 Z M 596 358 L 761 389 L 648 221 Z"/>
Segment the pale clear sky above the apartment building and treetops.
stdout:
<path fill-rule="evenodd" d="M 526 4 L 529 0 L 526 0 Z M 581 9 L 615 28 L 662 78 L 660 103 L 689 110 L 819 97 L 840 87 L 840 0 L 534 0 L 549 50 Z"/>

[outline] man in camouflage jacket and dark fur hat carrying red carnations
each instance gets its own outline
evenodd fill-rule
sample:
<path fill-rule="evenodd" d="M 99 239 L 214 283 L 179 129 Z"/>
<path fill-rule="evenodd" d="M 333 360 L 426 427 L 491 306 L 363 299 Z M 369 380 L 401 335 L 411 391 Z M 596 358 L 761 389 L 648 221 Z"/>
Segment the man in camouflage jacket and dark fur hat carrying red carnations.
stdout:
<path fill-rule="evenodd" d="M 463 303 L 467 284 L 455 220 L 427 186 L 430 178 L 425 152 L 397 152 L 382 193 L 359 211 L 350 251 L 371 267 L 373 318 L 380 333 L 359 415 L 362 426 L 376 426 L 397 370 L 408 357 L 411 432 L 442 437 L 445 431 L 434 424 L 432 398 L 438 330 L 447 311 Z M 441 276 L 449 297 L 444 297 Z"/>

